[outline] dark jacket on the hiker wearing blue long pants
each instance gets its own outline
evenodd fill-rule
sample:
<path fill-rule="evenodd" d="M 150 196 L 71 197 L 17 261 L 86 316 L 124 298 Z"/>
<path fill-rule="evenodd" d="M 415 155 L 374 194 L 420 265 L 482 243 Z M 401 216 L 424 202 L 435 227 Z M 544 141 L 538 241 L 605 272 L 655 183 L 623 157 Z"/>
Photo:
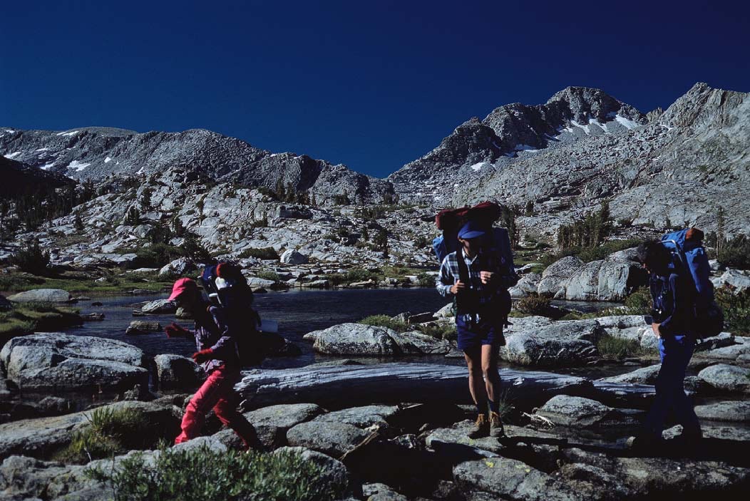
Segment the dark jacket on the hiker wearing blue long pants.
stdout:
<path fill-rule="evenodd" d="M 663 337 L 693 334 L 695 317 L 692 284 L 675 273 L 652 273 L 649 277 L 649 288 L 654 301 L 652 316 L 654 322 L 659 324 L 659 333 Z"/>

